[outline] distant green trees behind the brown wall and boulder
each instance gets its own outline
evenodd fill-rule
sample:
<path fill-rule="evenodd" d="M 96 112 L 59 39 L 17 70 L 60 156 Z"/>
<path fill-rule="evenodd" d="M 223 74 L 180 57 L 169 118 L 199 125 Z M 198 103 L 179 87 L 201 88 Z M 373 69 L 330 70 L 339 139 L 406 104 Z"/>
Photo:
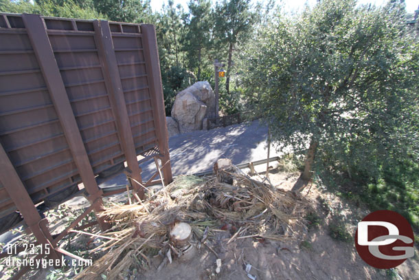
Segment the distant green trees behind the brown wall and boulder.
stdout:
<path fill-rule="evenodd" d="M 244 45 L 249 39 L 257 19 L 255 10 L 249 0 L 222 1 L 216 6 L 210 0 L 191 0 L 188 11 L 168 0 L 159 12 L 152 12 L 150 0 L 0 0 L 1 12 L 154 24 L 168 116 L 174 96 L 182 89 L 198 80 L 208 80 L 214 88 L 214 59 L 229 61 L 227 78 L 234 76 L 230 72 L 235 68 L 236 51 L 229 52 L 228 47 Z M 227 94 L 230 86 L 225 81 L 221 84 L 220 110 L 225 114 L 238 111 L 240 91 Z M 230 84 L 236 89 L 234 82 Z"/>

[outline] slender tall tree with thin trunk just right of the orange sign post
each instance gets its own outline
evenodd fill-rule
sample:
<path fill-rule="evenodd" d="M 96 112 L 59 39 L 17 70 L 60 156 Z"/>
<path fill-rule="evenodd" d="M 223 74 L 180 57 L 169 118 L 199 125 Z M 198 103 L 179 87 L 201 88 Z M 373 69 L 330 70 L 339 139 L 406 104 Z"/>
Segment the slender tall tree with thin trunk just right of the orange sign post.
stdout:
<path fill-rule="evenodd" d="M 215 30 L 216 41 L 227 45 L 228 59 L 225 89 L 229 94 L 231 61 L 234 48 L 238 43 L 245 43 L 251 36 L 251 29 L 257 20 L 257 13 L 252 12 L 250 0 L 223 0 L 216 4 Z M 220 49 L 220 47 L 218 47 Z"/>

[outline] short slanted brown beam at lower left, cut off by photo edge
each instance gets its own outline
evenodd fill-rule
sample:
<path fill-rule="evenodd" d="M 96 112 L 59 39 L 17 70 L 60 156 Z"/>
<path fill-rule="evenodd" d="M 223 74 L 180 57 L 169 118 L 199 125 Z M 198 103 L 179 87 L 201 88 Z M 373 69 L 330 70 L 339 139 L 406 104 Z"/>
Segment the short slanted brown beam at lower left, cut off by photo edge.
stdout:
<path fill-rule="evenodd" d="M 5 153 L 3 146 L 0 145 L 0 182 L 4 186 L 5 190 L 8 192 L 8 195 L 16 205 L 16 208 L 19 209 L 25 223 L 30 228 L 36 239 L 40 244 L 54 244 L 54 240 L 51 235 L 45 234 L 47 228 L 46 219 L 42 219 L 39 215 L 34 202 L 30 198 L 30 195 L 27 193 L 23 182 L 21 181 L 19 175 L 16 173 L 12 162 Z M 48 239 L 49 238 L 49 239 Z M 55 245 L 55 244 L 54 244 Z M 53 250 L 49 248 L 49 257 L 52 259 L 60 259 L 60 256 Z"/>

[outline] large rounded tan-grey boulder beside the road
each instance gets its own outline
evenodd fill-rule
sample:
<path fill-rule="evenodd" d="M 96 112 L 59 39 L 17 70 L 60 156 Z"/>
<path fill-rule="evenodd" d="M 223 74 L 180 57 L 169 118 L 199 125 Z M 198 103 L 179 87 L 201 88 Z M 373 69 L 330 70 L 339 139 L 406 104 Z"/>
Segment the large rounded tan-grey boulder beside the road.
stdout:
<path fill-rule="evenodd" d="M 180 133 L 202 129 L 203 118 L 215 115 L 215 95 L 208 82 L 198 82 L 177 94 L 172 118 L 177 120 Z"/>

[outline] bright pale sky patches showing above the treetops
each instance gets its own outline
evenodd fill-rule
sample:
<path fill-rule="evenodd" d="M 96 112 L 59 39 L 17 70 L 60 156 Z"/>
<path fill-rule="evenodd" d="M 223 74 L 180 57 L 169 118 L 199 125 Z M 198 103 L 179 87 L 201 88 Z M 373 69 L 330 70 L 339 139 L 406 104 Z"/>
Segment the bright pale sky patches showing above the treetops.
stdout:
<path fill-rule="evenodd" d="M 188 10 L 188 2 L 190 0 L 173 0 L 174 4 L 177 5 L 180 3 L 185 10 Z M 215 0 L 212 0 L 215 2 Z M 256 3 L 255 0 L 252 0 Z M 167 3 L 168 0 L 151 0 L 151 7 L 154 11 L 161 10 L 161 6 L 163 3 Z M 387 0 L 358 0 L 359 3 L 373 3 L 376 6 L 381 6 L 383 3 L 386 3 Z M 284 6 L 284 10 L 286 12 L 297 12 L 299 9 L 304 7 L 305 3 L 308 3 L 308 5 L 314 5 L 316 3 L 316 0 L 277 0 L 277 3 L 282 3 Z M 409 13 L 413 13 L 416 9 L 418 9 L 419 0 L 405 0 L 406 3 L 406 10 Z"/>

